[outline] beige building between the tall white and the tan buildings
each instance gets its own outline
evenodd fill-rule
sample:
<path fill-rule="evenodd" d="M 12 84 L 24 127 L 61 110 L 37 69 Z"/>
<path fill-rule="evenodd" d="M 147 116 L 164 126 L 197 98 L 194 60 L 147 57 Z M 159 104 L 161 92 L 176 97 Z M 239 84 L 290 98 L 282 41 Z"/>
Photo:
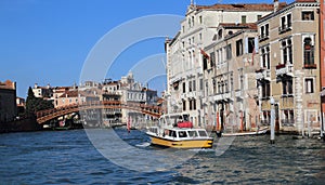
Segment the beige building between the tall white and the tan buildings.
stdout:
<path fill-rule="evenodd" d="M 212 119 L 218 130 L 234 132 L 257 128 L 257 25 L 220 23 L 216 32 L 211 44 L 204 49 L 202 109 L 212 115 L 208 120 Z"/>

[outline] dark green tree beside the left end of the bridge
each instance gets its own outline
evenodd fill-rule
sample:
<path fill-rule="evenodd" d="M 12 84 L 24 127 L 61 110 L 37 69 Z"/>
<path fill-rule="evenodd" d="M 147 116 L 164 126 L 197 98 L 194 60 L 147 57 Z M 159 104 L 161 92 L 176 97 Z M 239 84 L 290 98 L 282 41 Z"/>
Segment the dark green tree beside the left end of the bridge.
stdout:
<path fill-rule="evenodd" d="M 50 101 L 36 97 L 34 95 L 31 87 L 28 89 L 27 100 L 26 100 L 26 116 L 35 116 L 36 111 L 53 108 L 53 104 Z"/>

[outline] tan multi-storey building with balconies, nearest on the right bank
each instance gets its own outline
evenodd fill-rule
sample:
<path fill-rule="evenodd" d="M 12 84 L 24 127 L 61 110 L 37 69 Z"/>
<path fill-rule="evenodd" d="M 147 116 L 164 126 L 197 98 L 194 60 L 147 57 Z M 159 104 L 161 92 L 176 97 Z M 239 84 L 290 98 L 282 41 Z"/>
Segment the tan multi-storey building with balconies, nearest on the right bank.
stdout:
<path fill-rule="evenodd" d="M 320 130 L 320 3 L 296 0 L 258 21 L 257 70 L 261 120 L 269 123 L 270 98 L 275 127 L 299 133 Z"/>

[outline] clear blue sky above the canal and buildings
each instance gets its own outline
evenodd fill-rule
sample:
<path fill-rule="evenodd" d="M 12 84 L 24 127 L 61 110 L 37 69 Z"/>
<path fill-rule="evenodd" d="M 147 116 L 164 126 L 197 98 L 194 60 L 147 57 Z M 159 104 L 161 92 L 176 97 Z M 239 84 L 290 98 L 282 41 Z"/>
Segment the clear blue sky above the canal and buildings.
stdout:
<path fill-rule="evenodd" d="M 107 32 L 147 15 L 184 16 L 190 2 L 191 0 L 0 0 L 0 81 L 15 81 L 17 96 L 21 97 L 26 97 L 28 87 L 35 83 L 50 83 L 52 87 L 78 84 L 90 52 Z M 272 3 L 273 0 L 194 2 L 208 5 Z M 132 31 L 129 30 L 129 34 L 132 35 Z M 120 39 L 123 37 L 126 36 Z M 154 55 L 156 57 L 151 60 L 162 61 L 164 41 L 162 37 L 152 38 L 128 47 L 116 57 L 103 79 L 118 80 L 134 69 L 139 62 Z M 105 52 L 109 53 L 109 49 Z M 138 68 L 150 71 L 152 67 L 142 65 Z M 134 78 L 136 80 L 136 76 Z M 165 81 L 166 77 L 159 76 L 147 82 L 151 89 L 160 92 L 166 88 Z"/>

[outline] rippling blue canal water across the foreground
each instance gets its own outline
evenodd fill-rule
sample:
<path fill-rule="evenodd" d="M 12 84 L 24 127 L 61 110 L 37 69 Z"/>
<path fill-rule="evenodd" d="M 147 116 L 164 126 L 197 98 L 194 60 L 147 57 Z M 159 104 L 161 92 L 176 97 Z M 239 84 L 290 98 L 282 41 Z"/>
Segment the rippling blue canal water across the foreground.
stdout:
<path fill-rule="evenodd" d="M 107 141 L 89 140 L 89 132 L 117 135 L 131 147 L 110 145 L 116 138 L 109 136 Z M 116 129 L 0 134 L 0 184 L 325 182 L 325 143 L 321 141 L 292 140 L 290 135 L 276 136 L 275 145 L 269 144 L 270 135 L 235 137 L 229 143 L 218 140 L 214 148 L 191 150 L 191 155 L 183 157 L 180 150 L 150 146 L 150 138 L 136 130 L 130 133 Z M 222 150 L 216 149 L 218 147 Z M 180 158 L 183 160 L 178 162 Z"/>

